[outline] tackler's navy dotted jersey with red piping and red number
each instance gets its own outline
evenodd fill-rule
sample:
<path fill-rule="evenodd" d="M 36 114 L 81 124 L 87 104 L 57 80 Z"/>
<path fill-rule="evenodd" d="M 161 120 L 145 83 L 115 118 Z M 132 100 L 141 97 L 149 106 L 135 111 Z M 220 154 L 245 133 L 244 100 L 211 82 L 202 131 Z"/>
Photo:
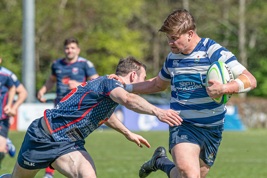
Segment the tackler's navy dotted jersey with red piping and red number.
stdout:
<path fill-rule="evenodd" d="M 56 142 L 84 139 L 110 118 L 119 104 L 109 94 L 114 88 L 124 86 L 107 76 L 84 82 L 54 109 L 45 110 L 46 124 Z"/>

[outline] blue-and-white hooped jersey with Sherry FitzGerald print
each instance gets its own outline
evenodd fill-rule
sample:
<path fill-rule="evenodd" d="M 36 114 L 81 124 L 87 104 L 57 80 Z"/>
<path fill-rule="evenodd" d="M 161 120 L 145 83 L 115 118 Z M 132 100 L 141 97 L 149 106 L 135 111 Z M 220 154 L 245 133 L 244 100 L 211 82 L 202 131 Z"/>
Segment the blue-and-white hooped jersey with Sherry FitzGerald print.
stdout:
<path fill-rule="evenodd" d="M 170 53 L 159 77 L 171 82 L 171 109 L 196 126 L 223 124 L 225 104 L 215 103 L 206 92 L 206 73 L 215 61 L 229 68 L 240 64 L 234 54 L 209 38 L 201 38 L 190 54 Z"/>

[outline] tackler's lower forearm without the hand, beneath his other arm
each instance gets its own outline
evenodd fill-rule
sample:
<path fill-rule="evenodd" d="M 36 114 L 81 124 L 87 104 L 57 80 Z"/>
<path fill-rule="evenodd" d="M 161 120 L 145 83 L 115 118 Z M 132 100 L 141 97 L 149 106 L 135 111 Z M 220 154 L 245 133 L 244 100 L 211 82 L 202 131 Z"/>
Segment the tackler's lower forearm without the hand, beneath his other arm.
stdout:
<path fill-rule="evenodd" d="M 108 126 L 109 128 L 112 128 L 116 130 L 117 132 L 120 132 L 124 136 L 129 135 L 131 133 L 130 130 L 128 130 L 121 122 L 120 120 L 116 117 L 116 115 L 113 113 L 112 116 L 105 122 L 105 125 Z"/>

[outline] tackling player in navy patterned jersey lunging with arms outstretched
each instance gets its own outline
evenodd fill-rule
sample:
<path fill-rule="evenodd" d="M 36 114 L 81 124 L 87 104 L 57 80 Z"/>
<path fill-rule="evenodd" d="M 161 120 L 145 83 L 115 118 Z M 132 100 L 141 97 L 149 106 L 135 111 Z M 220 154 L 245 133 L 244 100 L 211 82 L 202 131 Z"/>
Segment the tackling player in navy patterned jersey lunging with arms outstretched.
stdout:
<path fill-rule="evenodd" d="M 116 74 L 126 84 L 142 82 L 146 78 L 146 66 L 132 56 L 121 58 Z M 176 111 L 157 108 L 142 97 L 126 92 L 119 81 L 100 76 L 74 88 L 55 109 L 47 109 L 44 117 L 32 122 L 12 175 L 2 177 L 33 178 L 48 166 L 70 178 L 96 177 L 94 162 L 84 148 L 84 138 L 103 123 L 139 147 L 142 143 L 150 148 L 142 136 L 130 132 L 115 116 L 113 112 L 119 104 L 138 113 L 154 115 L 171 126 L 182 121 Z"/>

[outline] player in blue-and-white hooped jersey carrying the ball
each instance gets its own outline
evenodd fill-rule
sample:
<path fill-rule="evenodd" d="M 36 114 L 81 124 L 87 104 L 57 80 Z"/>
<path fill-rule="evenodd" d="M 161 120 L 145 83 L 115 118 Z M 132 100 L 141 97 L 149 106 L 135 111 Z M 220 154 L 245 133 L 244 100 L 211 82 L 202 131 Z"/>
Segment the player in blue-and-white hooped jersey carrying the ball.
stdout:
<path fill-rule="evenodd" d="M 147 94 L 171 85 L 170 107 L 180 113 L 183 122 L 169 127 L 169 152 L 174 163 L 167 159 L 165 148 L 158 147 L 151 160 L 141 166 L 139 177 L 161 170 L 171 178 L 204 178 L 217 156 L 226 113 L 225 104 L 218 105 L 212 98 L 248 92 L 257 81 L 229 50 L 198 37 L 195 19 L 187 10 L 174 10 L 158 31 L 166 33 L 171 47 L 162 70 L 158 77 L 126 85 L 125 90 Z M 209 80 L 213 85 L 206 87 L 207 69 L 215 61 L 225 62 L 235 80 L 227 84 Z"/>

